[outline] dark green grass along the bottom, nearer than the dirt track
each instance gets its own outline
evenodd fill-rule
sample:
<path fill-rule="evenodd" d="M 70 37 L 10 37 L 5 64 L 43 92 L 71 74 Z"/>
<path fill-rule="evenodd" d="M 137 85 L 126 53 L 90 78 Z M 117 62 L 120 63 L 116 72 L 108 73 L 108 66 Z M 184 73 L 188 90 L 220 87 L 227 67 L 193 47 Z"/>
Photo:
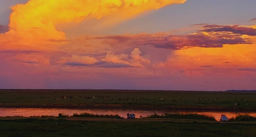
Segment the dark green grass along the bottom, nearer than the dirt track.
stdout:
<path fill-rule="evenodd" d="M 1 137 L 255 137 L 256 124 L 138 121 L 0 120 Z"/>

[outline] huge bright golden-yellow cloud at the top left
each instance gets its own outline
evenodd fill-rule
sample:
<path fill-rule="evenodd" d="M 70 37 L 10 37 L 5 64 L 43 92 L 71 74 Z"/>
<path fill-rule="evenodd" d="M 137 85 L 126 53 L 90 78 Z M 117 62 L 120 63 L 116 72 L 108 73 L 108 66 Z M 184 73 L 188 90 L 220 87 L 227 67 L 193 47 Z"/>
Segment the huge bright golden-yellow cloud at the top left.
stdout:
<path fill-rule="evenodd" d="M 186 0 L 29 0 L 11 9 L 9 28 L 27 37 L 65 39 L 65 33 L 56 29 L 57 24 L 79 23 L 83 20 L 115 16 L 115 22 L 132 18 L 148 10 Z M 12 32 L 12 33 L 13 33 Z"/>

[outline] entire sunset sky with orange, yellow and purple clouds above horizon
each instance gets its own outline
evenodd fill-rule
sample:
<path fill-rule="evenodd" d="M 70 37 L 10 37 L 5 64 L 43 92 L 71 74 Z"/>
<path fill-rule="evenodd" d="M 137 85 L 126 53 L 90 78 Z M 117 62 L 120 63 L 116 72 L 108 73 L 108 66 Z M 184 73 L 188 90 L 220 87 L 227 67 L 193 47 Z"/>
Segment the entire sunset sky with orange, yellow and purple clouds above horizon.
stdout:
<path fill-rule="evenodd" d="M 255 0 L 1 0 L 0 89 L 255 90 Z"/>

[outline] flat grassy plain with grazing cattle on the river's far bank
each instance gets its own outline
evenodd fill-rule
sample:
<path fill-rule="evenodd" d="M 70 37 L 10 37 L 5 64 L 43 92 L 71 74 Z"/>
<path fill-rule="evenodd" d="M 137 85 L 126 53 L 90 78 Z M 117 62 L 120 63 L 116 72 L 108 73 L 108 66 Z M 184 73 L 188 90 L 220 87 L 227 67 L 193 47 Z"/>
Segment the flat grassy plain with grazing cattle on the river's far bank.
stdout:
<path fill-rule="evenodd" d="M 230 92 L 2 89 L 0 107 L 254 111 L 255 98 L 256 93 Z"/>

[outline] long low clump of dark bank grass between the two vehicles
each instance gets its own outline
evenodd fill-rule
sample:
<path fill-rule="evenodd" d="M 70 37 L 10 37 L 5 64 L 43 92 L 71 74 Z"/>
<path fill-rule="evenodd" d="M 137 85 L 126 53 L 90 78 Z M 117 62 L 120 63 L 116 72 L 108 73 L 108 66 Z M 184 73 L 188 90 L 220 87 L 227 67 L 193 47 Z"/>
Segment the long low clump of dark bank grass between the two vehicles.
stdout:
<path fill-rule="evenodd" d="M 199 120 L 212 120 L 216 121 L 214 116 L 208 116 L 208 115 L 200 115 L 200 114 L 168 114 L 165 113 L 163 115 L 157 115 L 156 113 L 153 115 L 148 116 L 147 118 L 172 118 L 172 119 L 199 119 Z"/>

